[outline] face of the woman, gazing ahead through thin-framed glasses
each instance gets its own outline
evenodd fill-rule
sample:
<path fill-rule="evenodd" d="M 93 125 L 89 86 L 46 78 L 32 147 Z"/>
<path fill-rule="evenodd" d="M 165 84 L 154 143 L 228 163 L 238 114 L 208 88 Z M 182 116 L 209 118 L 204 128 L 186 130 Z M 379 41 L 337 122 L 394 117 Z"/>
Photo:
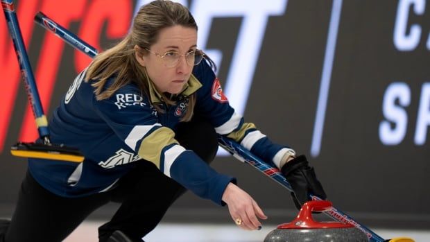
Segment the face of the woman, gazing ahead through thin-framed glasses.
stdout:
<path fill-rule="evenodd" d="M 153 80 L 159 92 L 178 94 L 193 70 L 193 65 L 187 63 L 185 55 L 189 51 L 195 51 L 196 45 L 196 29 L 180 25 L 171 26 L 160 31 L 158 41 L 150 46 L 150 51 L 146 55 L 136 54 L 136 58 L 139 64 L 146 67 L 149 78 Z M 165 60 L 160 56 L 164 53 L 171 55 L 171 51 L 179 53 L 180 60 L 174 67 L 166 67 Z"/>

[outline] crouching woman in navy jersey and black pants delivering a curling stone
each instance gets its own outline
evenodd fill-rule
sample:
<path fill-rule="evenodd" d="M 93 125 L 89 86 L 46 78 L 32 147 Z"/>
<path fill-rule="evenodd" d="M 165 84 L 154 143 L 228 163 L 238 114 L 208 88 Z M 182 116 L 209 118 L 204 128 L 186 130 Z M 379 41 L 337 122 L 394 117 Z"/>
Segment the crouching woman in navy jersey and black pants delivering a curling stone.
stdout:
<path fill-rule="evenodd" d="M 308 192 L 325 198 L 303 156 L 234 112 L 196 43 L 196 22 L 179 3 L 139 10 L 130 33 L 78 75 L 53 113 L 51 141 L 79 148 L 85 161 L 29 159 L 3 241 L 62 241 L 110 201 L 121 207 L 98 229 L 99 241 L 141 241 L 185 189 L 257 230 L 266 219 L 257 202 L 208 166 L 217 134 L 282 168 L 301 203 Z"/>

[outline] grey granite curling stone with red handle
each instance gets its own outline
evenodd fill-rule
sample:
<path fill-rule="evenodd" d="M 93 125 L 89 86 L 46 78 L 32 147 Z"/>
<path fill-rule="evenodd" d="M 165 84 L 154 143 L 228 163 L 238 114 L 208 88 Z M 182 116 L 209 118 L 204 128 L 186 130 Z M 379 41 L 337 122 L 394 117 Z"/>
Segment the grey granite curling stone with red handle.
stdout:
<path fill-rule="evenodd" d="M 278 225 L 267 234 L 264 242 L 368 242 L 368 237 L 354 225 L 334 221 L 313 221 L 312 211 L 327 211 L 332 202 L 310 201 L 304 203 L 298 216 L 291 223 Z"/>

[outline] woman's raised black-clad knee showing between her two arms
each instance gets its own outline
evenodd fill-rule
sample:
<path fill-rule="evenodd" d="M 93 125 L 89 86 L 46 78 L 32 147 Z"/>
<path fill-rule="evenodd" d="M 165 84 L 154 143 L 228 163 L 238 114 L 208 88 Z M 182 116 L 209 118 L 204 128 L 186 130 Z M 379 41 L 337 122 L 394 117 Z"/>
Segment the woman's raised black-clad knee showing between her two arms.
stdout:
<path fill-rule="evenodd" d="M 176 130 L 179 143 L 210 163 L 218 150 L 218 137 L 214 127 L 207 121 L 180 123 Z"/>

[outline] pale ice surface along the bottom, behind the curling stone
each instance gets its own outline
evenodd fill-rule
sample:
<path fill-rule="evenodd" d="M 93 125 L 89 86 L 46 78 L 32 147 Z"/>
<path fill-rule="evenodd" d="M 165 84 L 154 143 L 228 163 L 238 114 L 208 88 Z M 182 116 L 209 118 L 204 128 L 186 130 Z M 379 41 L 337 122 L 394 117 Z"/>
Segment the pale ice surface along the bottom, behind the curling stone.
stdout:
<path fill-rule="evenodd" d="M 88 221 L 80 225 L 65 242 L 97 241 L 97 227 L 102 221 Z M 266 225 L 260 231 L 241 230 L 234 224 L 196 225 L 161 223 L 144 239 L 147 242 L 262 242 L 275 225 Z M 415 242 L 429 242 L 430 230 L 385 230 L 373 229 L 384 239 L 410 237 Z"/>

